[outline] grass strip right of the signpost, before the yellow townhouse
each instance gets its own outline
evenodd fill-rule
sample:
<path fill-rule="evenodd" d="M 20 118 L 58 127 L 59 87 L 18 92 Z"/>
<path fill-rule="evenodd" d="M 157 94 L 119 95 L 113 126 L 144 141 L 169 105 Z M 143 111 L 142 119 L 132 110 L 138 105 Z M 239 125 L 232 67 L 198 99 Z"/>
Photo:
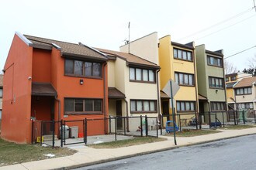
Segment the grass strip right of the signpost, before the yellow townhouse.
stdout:
<path fill-rule="evenodd" d="M 216 130 L 190 130 L 186 129 L 185 131 L 177 131 L 176 137 L 193 137 L 193 136 L 199 136 L 199 135 L 205 135 L 205 134 L 215 134 L 219 133 L 221 131 Z M 173 136 L 173 133 L 165 134 L 166 136 Z"/>

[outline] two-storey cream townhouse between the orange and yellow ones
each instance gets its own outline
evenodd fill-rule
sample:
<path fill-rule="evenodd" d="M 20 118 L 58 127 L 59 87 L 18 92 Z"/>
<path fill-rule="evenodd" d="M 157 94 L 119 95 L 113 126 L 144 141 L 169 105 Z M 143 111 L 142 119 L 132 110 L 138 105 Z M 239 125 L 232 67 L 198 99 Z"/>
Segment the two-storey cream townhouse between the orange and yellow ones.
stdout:
<path fill-rule="evenodd" d="M 119 117 L 138 117 L 159 114 L 158 79 L 160 69 L 155 63 L 135 56 L 108 49 L 98 49 L 105 53 L 108 61 L 109 115 Z M 137 121 L 130 121 L 129 130 L 137 128 Z M 156 122 L 149 122 L 156 125 Z M 123 128 L 123 120 L 117 128 Z"/>

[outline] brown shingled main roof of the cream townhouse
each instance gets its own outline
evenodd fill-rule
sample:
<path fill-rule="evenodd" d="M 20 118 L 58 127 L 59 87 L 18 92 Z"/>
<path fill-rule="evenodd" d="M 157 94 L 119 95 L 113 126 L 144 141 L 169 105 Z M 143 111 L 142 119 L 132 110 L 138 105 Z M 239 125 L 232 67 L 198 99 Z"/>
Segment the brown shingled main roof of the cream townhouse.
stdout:
<path fill-rule="evenodd" d="M 123 53 L 119 51 L 113 51 L 109 49 L 99 49 L 95 48 L 101 51 L 102 53 L 106 53 L 107 55 L 110 56 L 116 56 L 119 57 L 120 59 L 126 60 L 128 66 L 145 66 L 145 67 L 150 67 L 154 69 L 160 69 L 160 66 L 157 66 L 156 63 L 152 63 L 148 61 L 147 59 L 140 58 L 140 56 L 135 56 L 131 53 Z"/>

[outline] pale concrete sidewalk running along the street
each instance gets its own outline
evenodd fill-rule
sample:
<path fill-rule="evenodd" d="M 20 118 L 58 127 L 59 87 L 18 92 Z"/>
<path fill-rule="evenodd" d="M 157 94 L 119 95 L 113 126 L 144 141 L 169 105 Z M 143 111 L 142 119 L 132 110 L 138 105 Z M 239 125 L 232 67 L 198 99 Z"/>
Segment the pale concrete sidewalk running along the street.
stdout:
<path fill-rule="evenodd" d="M 221 130 L 222 132 L 216 134 L 206 134 L 202 136 L 177 138 L 177 146 L 174 144 L 173 137 L 161 136 L 167 138 L 167 141 L 159 141 L 144 145 L 134 145 L 125 148 L 113 149 L 95 149 L 88 148 L 85 145 L 73 145 L 70 148 L 78 150 L 78 152 L 71 156 L 61 158 L 49 158 L 36 162 L 26 162 L 17 165 L 9 165 L 0 167 L 2 169 L 69 169 L 78 168 L 85 165 L 93 165 L 102 162 L 109 162 L 121 158 L 130 158 L 136 155 L 144 155 L 156 151 L 166 151 L 172 148 L 178 148 L 188 145 L 197 145 L 210 141 L 218 141 L 227 138 L 235 138 L 248 134 L 256 134 L 256 128 L 247 128 L 243 130 Z"/>

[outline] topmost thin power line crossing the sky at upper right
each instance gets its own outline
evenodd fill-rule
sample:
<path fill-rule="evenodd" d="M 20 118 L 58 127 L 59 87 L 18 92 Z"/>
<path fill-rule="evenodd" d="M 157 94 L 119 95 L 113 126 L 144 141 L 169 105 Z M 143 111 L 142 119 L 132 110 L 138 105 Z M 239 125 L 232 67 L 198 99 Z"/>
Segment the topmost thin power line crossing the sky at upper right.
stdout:
<path fill-rule="evenodd" d="M 199 30 L 199 31 L 197 31 L 197 32 L 194 32 L 194 33 L 190 34 L 189 36 L 183 37 L 182 39 L 187 39 L 187 38 L 189 38 L 189 37 L 191 37 L 191 36 L 195 36 L 196 34 L 199 34 L 199 33 L 201 33 L 201 32 L 205 32 L 205 31 L 208 30 L 208 29 L 212 29 L 213 27 L 219 26 L 219 25 L 223 24 L 224 22 L 228 22 L 228 21 L 230 21 L 231 19 L 235 19 L 235 18 L 239 17 L 240 15 L 244 15 L 244 14 L 247 13 L 247 12 L 251 12 L 251 10 L 253 10 L 254 8 L 255 8 L 255 5 L 254 5 L 254 7 L 252 7 L 252 8 L 248 8 L 248 9 L 245 10 L 244 12 L 240 12 L 240 13 L 238 13 L 237 15 L 231 16 L 231 17 L 228 18 L 228 19 L 224 19 L 224 20 L 221 21 L 221 22 L 217 22 L 216 24 L 213 24 L 212 26 L 209 26 L 209 27 L 206 27 L 205 29 L 201 29 L 201 30 Z M 255 8 L 255 10 L 256 10 L 256 8 Z M 180 41 L 180 40 L 182 40 L 182 39 L 178 39 L 178 41 Z"/>

